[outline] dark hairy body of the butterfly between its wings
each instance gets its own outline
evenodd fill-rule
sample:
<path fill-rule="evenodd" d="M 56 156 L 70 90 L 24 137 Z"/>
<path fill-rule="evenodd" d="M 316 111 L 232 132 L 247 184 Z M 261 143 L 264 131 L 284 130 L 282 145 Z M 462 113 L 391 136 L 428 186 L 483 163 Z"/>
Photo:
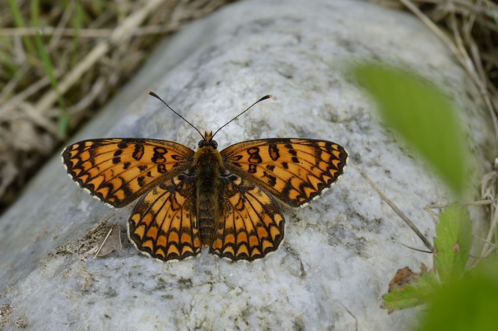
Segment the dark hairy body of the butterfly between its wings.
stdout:
<path fill-rule="evenodd" d="M 203 246 L 209 246 L 213 239 L 215 218 L 218 214 L 218 190 L 223 161 L 217 149 L 200 147 L 194 155 L 197 189 L 197 220 Z"/>

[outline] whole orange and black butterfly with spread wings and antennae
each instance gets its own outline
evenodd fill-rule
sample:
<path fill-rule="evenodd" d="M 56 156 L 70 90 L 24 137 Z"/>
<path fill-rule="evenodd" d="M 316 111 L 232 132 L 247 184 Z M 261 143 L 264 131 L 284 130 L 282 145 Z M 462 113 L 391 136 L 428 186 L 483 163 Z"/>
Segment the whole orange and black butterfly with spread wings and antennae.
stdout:
<path fill-rule="evenodd" d="M 258 139 L 219 152 L 213 137 L 224 126 L 202 135 L 184 120 L 202 136 L 195 152 L 143 138 L 84 140 L 62 152 L 69 176 L 95 198 L 112 207 L 139 198 L 128 219 L 128 237 L 141 253 L 159 260 L 181 260 L 202 247 L 230 260 L 265 256 L 284 236 L 279 202 L 305 206 L 334 184 L 347 164 L 346 150 L 325 140 Z"/>

